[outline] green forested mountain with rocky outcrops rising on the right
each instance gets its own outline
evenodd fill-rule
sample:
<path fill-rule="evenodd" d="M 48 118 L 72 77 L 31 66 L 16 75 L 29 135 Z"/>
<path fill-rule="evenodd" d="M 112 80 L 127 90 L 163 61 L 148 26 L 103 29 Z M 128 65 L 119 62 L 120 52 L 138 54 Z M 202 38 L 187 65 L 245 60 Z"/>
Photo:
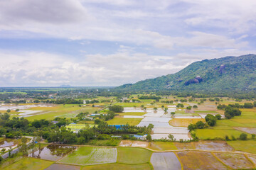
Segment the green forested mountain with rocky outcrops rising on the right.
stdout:
<path fill-rule="evenodd" d="M 193 62 L 175 74 L 118 86 L 122 90 L 255 91 L 256 55 Z"/>

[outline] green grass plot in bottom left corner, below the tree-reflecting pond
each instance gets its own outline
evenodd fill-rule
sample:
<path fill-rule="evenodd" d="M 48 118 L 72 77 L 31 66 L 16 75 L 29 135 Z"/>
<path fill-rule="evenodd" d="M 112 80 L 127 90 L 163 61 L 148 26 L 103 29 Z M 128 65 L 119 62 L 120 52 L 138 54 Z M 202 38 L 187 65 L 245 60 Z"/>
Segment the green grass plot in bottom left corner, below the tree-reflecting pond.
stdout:
<path fill-rule="evenodd" d="M 3 170 L 43 170 L 54 162 L 24 157 L 23 159 L 5 167 Z"/>

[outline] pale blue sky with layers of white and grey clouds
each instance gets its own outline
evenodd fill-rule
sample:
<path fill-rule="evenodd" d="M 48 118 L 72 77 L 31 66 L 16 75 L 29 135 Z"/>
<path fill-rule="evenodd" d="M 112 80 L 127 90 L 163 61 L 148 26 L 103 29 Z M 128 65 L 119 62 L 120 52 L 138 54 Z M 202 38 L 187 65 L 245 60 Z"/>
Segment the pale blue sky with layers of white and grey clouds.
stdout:
<path fill-rule="evenodd" d="M 1 0 L 1 86 L 119 86 L 256 54 L 255 0 Z"/>

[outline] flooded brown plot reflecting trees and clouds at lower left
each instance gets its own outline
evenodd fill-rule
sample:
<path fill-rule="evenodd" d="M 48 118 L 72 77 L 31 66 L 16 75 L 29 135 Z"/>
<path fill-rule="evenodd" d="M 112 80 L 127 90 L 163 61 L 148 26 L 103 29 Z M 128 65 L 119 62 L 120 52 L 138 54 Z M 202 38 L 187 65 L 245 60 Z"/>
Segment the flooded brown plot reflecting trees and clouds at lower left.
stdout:
<path fill-rule="evenodd" d="M 57 161 L 75 148 L 76 147 L 73 146 L 48 145 L 47 147 L 43 147 L 36 152 L 28 154 L 28 157 Z"/>

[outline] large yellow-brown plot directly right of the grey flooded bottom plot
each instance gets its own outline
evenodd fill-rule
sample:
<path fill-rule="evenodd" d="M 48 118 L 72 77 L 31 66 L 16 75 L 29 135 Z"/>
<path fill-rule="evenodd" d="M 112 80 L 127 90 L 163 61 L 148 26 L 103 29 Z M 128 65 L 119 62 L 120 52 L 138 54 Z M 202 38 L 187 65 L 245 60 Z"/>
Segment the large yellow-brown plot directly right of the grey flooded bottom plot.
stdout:
<path fill-rule="evenodd" d="M 210 152 L 178 152 L 178 157 L 183 164 L 183 169 L 228 169 L 216 159 Z"/>

